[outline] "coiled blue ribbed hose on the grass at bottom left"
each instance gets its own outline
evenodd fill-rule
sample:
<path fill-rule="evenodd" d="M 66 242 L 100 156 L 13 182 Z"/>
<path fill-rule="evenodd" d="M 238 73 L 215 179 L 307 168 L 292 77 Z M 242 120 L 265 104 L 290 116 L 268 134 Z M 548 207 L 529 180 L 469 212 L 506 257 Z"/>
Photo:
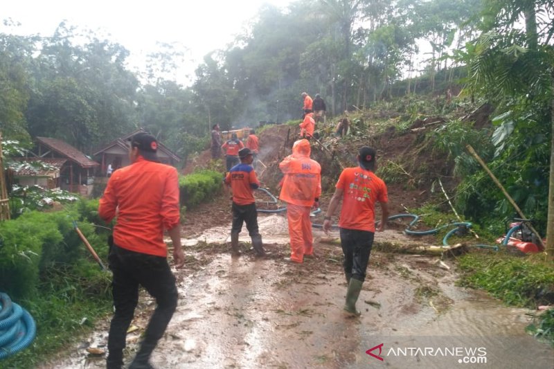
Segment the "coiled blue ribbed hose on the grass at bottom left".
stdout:
<path fill-rule="evenodd" d="M 27 348 L 37 334 L 37 325 L 26 309 L 0 292 L 0 359 Z"/>

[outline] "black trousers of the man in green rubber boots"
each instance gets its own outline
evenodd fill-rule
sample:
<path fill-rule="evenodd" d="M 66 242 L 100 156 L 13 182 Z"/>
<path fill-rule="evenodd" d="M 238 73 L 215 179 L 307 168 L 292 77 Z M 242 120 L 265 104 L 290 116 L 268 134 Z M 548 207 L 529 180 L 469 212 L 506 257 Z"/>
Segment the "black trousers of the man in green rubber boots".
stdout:
<path fill-rule="evenodd" d="M 340 228 L 340 233 L 344 274 L 347 279 L 355 278 L 364 282 L 375 233 L 346 228 Z"/>

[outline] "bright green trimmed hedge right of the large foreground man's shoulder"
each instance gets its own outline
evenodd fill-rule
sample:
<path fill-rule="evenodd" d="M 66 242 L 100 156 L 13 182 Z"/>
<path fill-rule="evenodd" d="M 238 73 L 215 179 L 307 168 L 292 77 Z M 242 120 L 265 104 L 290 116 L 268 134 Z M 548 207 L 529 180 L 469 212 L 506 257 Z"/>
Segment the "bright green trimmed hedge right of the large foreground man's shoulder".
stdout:
<path fill-rule="evenodd" d="M 194 208 L 202 201 L 213 197 L 222 189 L 222 174 L 213 170 L 200 170 L 184 177 L 179 177 L 181 205 Z"/>

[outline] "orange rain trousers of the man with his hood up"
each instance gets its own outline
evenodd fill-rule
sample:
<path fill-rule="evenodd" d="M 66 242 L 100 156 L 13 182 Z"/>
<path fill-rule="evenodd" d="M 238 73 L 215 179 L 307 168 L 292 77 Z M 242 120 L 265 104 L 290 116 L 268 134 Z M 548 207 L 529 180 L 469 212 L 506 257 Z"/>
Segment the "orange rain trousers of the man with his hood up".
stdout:
<path fill-rule="evenodd" d="M 314 253 L 314 237 L 312 235 L 312 222 L 310 222 L 310 210 L 311 206 L 287 203 L 290 259 L 294 262 L 303 262 L 304 255 L 312 255 Z"/>

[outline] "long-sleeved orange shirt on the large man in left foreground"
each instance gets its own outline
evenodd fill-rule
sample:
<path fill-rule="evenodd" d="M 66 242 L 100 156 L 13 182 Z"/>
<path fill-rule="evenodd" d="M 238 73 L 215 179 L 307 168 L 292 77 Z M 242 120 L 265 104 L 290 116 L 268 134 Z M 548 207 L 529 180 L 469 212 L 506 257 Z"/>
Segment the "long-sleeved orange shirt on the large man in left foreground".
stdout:
<path fill-rule="evenodd" d="M 114 171 L 100 199 L 98 215 L 116 217 L 114 243 L 123 249 L 167 256 L 163 230 L 179 225 L 179 176 L 169 165 L 139 156 Z"/>

